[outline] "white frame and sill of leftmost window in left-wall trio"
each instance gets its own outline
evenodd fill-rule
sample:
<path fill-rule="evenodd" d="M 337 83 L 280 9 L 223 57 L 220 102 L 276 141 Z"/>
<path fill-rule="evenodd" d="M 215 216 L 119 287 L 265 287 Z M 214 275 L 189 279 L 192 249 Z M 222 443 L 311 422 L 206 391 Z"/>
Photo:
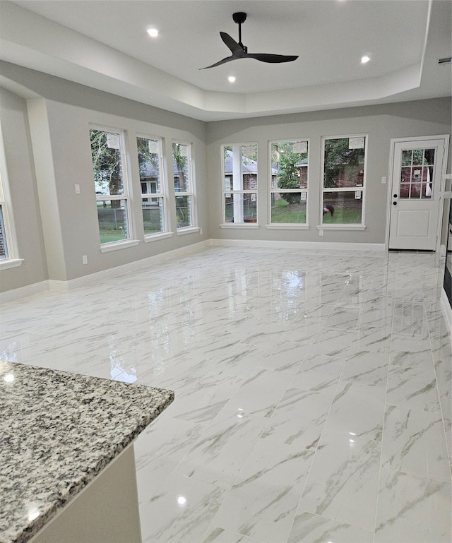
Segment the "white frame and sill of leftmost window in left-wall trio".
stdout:
<path fill-rule="evenodd" d="M 106 241 L 105 243 L 102 243 L 102 241 L 100 241 L 99 215 L 97 214 L 97 233 L 99 234 L 100 251 L 102 253 L 107 253 L 109 251 L 115 251 L 116 249 L 123 249 L 124 247 L 138 245 L 139 241 L 137 239 L 134 239 L 135 224 L 134 224 L 133 212 L 132 212 L 133 199 L 132 199 L 131 174 L 129 171 L 130 161 L 129 161 L 129 153 L 128 153 L 128 147 L 127 147 L 126 130 L 119 129 L 117 127 L 112 127 L 112 126 L 105 126 L 105 125 L 90 123 L 88 126 L 88 131 L 91 131 L 91 130 L 117 134 L 119 136 L 119 145 L 120 145 L 120 151 L 121 151 L 121 173 L 122 173 L 122 183 L 124 187 L 124 192 L 122 194 L 98 195 L 96 193 L 95 194 L 96 212 L 97 212 L 98 202 L 102 202 L 106 200 L 125 201 L 127 227 L 129 229 L 129 237 L 126 237 L 124 239 L 117 239 L 115 241 Z M 91 150 L 91 145 L 90 145 L 90 150 Z M 91 150 L 91 153 L 92 153 L 92 150 Z M 96 181 L 94 177 L 94 165 L 93 165 L 92 154 L 91 154 L 91 168 L 93 170 L 93 182 L 94 182 L 94 188 L 95 188 Z"/>

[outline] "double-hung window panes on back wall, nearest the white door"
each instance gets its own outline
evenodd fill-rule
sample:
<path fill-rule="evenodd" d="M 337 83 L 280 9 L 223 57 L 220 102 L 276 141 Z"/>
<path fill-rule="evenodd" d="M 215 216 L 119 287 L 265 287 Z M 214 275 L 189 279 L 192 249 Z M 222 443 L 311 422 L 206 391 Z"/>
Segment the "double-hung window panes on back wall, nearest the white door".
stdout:
<path fill-rule="evenodd" d="M 367 136 L 323 139 L 322 225 L 362 225 Z"/>

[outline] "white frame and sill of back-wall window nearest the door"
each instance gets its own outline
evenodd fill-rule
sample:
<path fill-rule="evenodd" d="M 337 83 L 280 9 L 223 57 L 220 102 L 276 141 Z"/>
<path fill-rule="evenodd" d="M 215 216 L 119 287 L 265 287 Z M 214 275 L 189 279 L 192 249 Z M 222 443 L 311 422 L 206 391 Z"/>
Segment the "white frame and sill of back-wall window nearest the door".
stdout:
<path fill-rule="evenodd" d="M 325 142 L 327 140 L 340 140 L 345 138 L 364 138 L 364 167 L 362 186 L 360 187 L 325 187 Z M 320 208 L 319 208 L 319 225 L 317 229 L 332 229 L 332 230 L 364 230 L 365 226 L 365 213 L 366 213 L 366 192 L 367 192 L 367 158 L 369 148 L 369 134 L 368 133 L 347 133 L 339 136 L 322 136 L 321 137 L 321 184 L 320 184 Z M 361 222 L 343 222 L 338 224 L 323 223 L 323 194 L 325 192 L 356 192 L 361 191 Z"/>

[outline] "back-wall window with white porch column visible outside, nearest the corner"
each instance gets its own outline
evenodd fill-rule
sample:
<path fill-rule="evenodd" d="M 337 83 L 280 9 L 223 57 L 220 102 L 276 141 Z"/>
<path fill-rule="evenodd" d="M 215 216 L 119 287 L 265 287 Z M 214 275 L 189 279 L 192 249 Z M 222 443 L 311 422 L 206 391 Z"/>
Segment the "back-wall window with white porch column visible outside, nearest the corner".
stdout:
<path fill-rule="evenodd" d="M 222 145 L 223 222 L 257 221 L 257 144 Z"/>

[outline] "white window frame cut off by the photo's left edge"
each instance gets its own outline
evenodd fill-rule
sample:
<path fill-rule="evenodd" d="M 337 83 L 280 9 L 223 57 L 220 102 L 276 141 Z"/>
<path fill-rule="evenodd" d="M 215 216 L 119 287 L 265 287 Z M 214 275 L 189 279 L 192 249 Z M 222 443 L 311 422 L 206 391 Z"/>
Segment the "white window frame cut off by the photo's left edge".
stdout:
<path fill-rule="evenodd" d="M 14 213 L 9 191 L 8 166 L 6 164 L 6 153 L 4 148 L 3 132 L 0 126 L 0 207 L 3 215 L 4 240 L 7 256 L 0 258 L 0 270 L 18 268 L 24 259 L 19 258 L 18 241 L 16 228 L 14 227 Z"/>

